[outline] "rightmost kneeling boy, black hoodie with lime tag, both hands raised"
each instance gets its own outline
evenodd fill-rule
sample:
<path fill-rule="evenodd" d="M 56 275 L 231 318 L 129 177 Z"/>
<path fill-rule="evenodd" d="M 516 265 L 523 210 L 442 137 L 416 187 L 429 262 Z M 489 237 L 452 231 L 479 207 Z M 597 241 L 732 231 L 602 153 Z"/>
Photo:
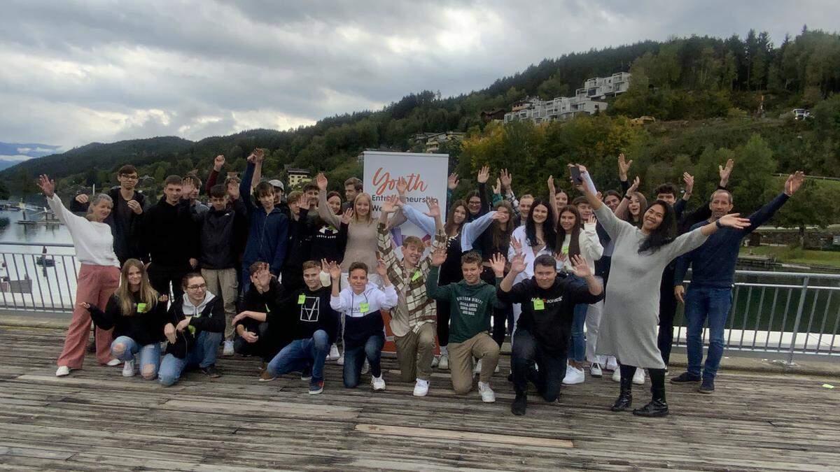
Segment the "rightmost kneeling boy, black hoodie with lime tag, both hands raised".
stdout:
<path fill-rule="evenodd" d="M 549 254 L 533 261 L 533 277 L 513 284 L 525 270 L 524 254 L 511 260 L 511 270 L 499 284 L 498 297 L 521 303 L 522 314 L 513 335 L 511 366 L 517 396 L 511 406 L 514 415 L 524 415 L 528 406 L 528 380 L 537 386 L 545 401 L 555 401 L 566 375 L 566 349 L 570 338 L 575 305 L 591 305 L 601 300 L 603 286 L 592 275 L 586 260 L 575 255 L 575 275 L 557 276 L 556 261 Z M 493 269 L 504 269 L 505 260 L 493 259 Z M 536 362 L 537 370 L 533 364 Z"/>

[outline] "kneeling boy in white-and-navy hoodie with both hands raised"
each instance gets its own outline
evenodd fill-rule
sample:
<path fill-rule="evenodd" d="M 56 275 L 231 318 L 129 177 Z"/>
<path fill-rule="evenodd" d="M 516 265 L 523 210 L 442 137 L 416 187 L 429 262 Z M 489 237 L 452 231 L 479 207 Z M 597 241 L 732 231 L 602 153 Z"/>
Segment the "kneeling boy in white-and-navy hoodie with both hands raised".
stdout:
<path fill-rule="evenodd" d="M 364 262 L 350 264 L 349 286 L 339 293 L 341 267 L 334 261 L 329 263 L 329 276 L 332 279 L 329 306 L 344 313 L 344 386 L 347 388 L 359 385 L 362 364 L 365 364 L 367 358 L 373 390 L 385 390 L 380 365 L 382 346 L 385 344 L 385 323 L 382 322 L 380 309 L 395 307 L 397 298 L 381 260 L 376 273 L 382 278 L 381 290 L 368 281 L 368 267 Z"/>

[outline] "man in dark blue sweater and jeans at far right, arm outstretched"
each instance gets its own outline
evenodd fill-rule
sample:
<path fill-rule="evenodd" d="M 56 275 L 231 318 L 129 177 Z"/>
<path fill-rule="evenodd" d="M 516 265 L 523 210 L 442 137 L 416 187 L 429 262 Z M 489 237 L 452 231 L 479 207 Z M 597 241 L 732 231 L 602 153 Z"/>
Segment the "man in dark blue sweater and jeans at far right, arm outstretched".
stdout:
<path fill-rule="evenodd" d="M 749 216 L 747 228 L 722 228 L 712 234 L 699 248 L 683 254 L 677 260 L 674 276 L 674 295 L 680 302 L 685 302 L 685 318 L 688 327 L 688 371 L 671 379 L 672 383 L 695 383 L 702 380 L 698 391 L 715 391 L 715 375 L 723 355 L 723 329 L 727 315 L 732 307 L 732 286 L 735 279 L 735 264 L 738 262 L 738 249 L 741 240 L 755 228 L 773 217 L 774 213 L 787 202 L 795 191 L 799 190 L 805 176 L 797 171 L 785 181 L 785 191 L 773 201 L 761 207 Z M 711 218 L 717 221 L 732 211 L 732 194 L 718 190 L 711 194 Z M 691 229 L 706 222 L 697 223 Z M 685 292 L 683 281 L 689 265 L 692 266 L 691 285 Z M 684 299 L 685 296 L 685 299 Z M 709 353 L 701 375 L 703 361 L 703 325 L 709 321 Z"/>

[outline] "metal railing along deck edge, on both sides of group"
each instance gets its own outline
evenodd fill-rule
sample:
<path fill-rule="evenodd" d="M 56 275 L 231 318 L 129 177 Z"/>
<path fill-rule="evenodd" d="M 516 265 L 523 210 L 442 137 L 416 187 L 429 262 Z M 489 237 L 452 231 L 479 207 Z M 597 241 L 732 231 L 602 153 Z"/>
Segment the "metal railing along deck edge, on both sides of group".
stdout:
<path fill-rule="evenodd" d="M 0 308 L 73 310 L 80 264 L 72 244 L 0 242 L 0 262 Z M 784 353 L 789 363 L 794 354 L 840 355 L 840 275 L 736 270 L 735 278 L 726 349 Z M 677 310 L 674 340 L 685 346 Z"/>

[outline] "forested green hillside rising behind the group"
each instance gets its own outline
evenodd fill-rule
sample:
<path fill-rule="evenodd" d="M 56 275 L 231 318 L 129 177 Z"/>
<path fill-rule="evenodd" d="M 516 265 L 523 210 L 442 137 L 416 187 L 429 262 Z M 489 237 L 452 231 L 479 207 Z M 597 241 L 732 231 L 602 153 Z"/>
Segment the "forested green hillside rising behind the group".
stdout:
<path fill-rule="evenodd" d="M 632 72 L 630 90 L 612 99 L 600 116 L 543 126 L 504 126 L 480 119 L 482 110 L 509 109 L 522 97 L 573 95 L 586 78 L 617 71 Z M 355 156 L 365 148 L 409 150 L 412 134 L 454 130 L 467 132 L 468 138 L 444 152 L 452 155 L 452 168 L 464 176 L 490 163 L 509 167 L 522 179 L 528 176 L 528 181 L 518 182 L 523 190 L 540 191 L 537 182 L 544 183 L 549 173 L 558 173 L 570 160 L 591 165 L 605 180 L 613 178 L 615 156 L 623 151 L 636 160 L 646 189 L 690 169 L 699 175 L 700 192 L 713 186 L 714 176 L 706 173 L 733 156 L 739 161 L 740 176 L 751 179 L 742 181 L 744 187 L 736 197 L 753 204 L 764 197 L 759 190 L 772 190 L 760 179 L 772 179 L 775 172 L 802 169 L 837 175 L 838 91 L 838 34 L 803 28 L 779 45 L 772 44 L 766 33 L 752 30 L 746 38 L 643 41 L 546 59 L 458 97 L 412 93 L 379 111 L 324 118 L 294 130 L 255 129 L 197 142 L 164 137 L 88 144 L 3 170 L 0 180 L 18 194 L 34 191 L 34 176 L 41 172 L 58 178 L 60 185 L 107 186 L 119 165 L 132 163 L 141 176 L 160 181 L 194 168 L 206 175 L 218 154 L 226 155 L 234 170 L 241 170 L 249 151 L 262 147 L 268 149 L 265 176 L 281 176 L 283 165 L 291 164 L 328 170 L 331 184 L 338 185 L 347 176 L 360 175 Z M 811 108 L 814 118 L 785 117 L 791 108 Z M 641 115 L 654 116 L 658 122 L 641 127 L 627 119 Z M 467 185 L 465 180 L 460 190 Z"/>

